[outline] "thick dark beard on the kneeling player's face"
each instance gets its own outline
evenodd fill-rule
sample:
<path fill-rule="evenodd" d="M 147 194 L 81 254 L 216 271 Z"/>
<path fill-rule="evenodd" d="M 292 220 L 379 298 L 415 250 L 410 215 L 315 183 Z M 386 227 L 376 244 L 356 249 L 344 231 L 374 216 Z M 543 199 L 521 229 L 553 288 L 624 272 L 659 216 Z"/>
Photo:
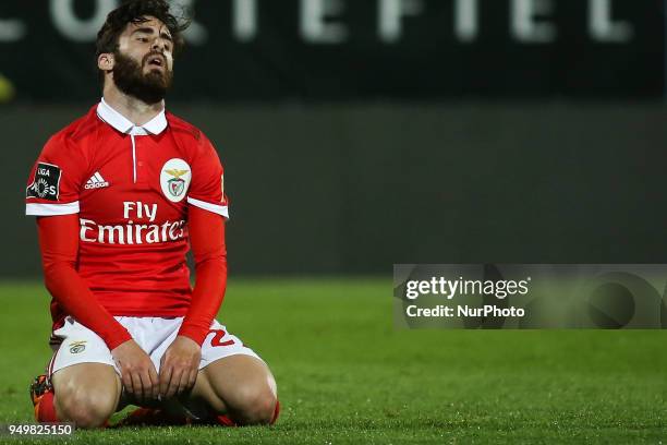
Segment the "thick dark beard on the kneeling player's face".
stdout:
<path fill-rule="evenodd" d="M 118 86 L 118 89 L 146 104 L 157 104 L 161 101 L 171 86 L 173 72 L 165 64 L 165 71 L 155 69 L 144 74 L 144 67 L 148 58 L 155 55 L 160 53 L 147 53 L 140 64 L 131 57 L 121 53 L 118 49 L 113 51 L 113 58 L 116 60 L 113 67 L 113 82 L 116 86 Z M 163 60 L 166 62 L 167 59 L 163 58 Z"/>

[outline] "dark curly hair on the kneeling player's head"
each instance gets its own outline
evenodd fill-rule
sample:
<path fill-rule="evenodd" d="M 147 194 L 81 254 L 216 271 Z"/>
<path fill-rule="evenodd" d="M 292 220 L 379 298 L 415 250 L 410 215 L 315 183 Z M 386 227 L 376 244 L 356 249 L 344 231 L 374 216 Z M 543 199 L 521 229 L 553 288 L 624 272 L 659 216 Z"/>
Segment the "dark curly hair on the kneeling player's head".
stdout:
<path fill-rule="evenodd" d="M 118 38 L 129 23 L 147 22 L 150 15 L 167 25 L 173 39 L 173 53 L 178 55 L 184 46 L 183 32 L 190 26 L 192 14 L 175 16 L 169 10 L 167 0 L 125 0 L 123 3 L 107 15 L 107 21 L 97 33 L 95 59 L 105 52 L 113 52 L 118 49 Z M 104 72 L 99 72 L 104 79 Z"/>

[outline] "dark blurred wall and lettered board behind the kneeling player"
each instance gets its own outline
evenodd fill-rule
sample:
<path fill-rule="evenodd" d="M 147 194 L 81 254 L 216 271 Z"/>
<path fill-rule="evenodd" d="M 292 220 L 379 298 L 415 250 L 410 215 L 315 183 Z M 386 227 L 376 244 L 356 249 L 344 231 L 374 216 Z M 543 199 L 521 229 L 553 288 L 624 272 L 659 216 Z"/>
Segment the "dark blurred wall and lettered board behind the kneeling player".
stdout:
<path fill-rule="evenodd" d="M 28 170 L 118 3 L 0 3 L 5 277 L 39 274 Z M 232 274 L 667 262 L 662 1 L 178 3 L 167 107 L 226 166 Z"/>

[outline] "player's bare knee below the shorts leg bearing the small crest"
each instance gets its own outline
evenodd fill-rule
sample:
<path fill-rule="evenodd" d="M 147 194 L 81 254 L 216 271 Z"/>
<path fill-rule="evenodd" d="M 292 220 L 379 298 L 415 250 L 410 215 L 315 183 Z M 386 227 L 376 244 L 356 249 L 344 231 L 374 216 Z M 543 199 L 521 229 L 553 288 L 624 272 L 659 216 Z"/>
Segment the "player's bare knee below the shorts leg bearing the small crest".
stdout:
<path fill-rule="evenodd" d="M 117 404 L 114 394 L 89 387 L 57 392 L 54 400 L 60 420 L 74 422 L 78 428 L 102 426 Z"/>

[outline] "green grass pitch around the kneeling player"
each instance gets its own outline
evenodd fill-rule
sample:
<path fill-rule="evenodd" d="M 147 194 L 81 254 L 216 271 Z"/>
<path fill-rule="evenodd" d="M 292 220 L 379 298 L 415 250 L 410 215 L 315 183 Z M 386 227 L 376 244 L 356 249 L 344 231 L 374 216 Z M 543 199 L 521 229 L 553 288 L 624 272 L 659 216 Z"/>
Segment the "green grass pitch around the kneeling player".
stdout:
<path fill-rule="evenodd" d="M 28 422 L 28 383 L 50 357 L 47 293 L 13 282 L 0 298 L 0 422 Z M 271 366 L 276 426 L 77 431 L 66 442 L 667 443 L 664 332 L 396 330 L 389 278 L 232 279 L 219 318 Z M 59 443 L 25 441 L 38 442 Z"/>

